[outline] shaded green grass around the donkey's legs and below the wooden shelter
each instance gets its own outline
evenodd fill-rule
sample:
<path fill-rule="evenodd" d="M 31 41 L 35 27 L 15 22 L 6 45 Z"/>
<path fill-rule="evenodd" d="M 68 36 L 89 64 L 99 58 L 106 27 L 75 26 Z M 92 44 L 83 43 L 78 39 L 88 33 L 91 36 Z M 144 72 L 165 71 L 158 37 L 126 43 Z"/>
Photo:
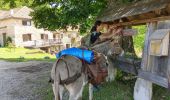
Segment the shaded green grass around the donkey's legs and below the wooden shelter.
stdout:
<path fill-rule="evenodd" d="M 101 85 L 99 91 L 94 92 L 93 100 L 133 100 L 133 89 L 135 80 L 133 81 L 119 81 L 108 82 Z M 53 91 L 51 85 L 48 89 L 42 89 L 39 92 L 46 92 L 44 100 L 52 100 Z M 83 100 L 88 100 L 88 85 L 85 86 L 83 91 Z M 154 85 L 153 86 L 153 97 L 152 100 L 170 100 L 170 91 Z"/>

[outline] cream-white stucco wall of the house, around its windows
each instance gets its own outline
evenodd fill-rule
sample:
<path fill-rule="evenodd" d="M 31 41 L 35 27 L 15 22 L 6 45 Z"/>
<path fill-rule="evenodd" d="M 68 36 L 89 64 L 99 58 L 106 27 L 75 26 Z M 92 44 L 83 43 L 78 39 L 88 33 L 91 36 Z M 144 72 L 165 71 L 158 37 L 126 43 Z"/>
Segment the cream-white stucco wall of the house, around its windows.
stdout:
<path fill-rule="evenodd" d="M 41 34 L 48 34 L 48 39 L 53 39 L 53 33 L 50 31 L 45 31 L 44 29 L 35 28 L 33 22 L 31 26 L 23 26 L 22 19 L 4 19 L 0 20 L 0 27 L 7 26 L 6 28 L 0 29 L 0 44 L 3 44 L 2 33 L 7 33 L 7 37 L 10 36 L 16 46 L 23 46 L 23 34 L 32 34 L 32 41 L 41 40 Z M 63 38 L 61 38 L 61 34 L 63 34 Z M 68 35 L 71 37 L 68 37 Z M 57 34 L 56 38 L 62 40 L 62 44 L 64 48 L 66 48 L 66 44 L 77 45 L 77 43 L 71 43 L 71 38 L 76 38 L 76 41 L 79 41 L 77 37 L 78 31 L 68 30 L 67 32 L 61 31 Z"/>

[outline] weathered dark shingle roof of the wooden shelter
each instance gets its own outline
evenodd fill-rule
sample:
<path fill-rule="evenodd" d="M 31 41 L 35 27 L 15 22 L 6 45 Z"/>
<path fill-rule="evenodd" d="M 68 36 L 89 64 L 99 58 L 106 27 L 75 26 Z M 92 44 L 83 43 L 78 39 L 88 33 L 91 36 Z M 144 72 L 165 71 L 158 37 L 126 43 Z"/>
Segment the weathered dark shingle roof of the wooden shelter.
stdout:
<path fill-rule="evenodd" d="M 100 13 L 97 20 L 101 20 L 102 22 L 110 22 L 121 18 L 134 17 L 135 15 L 148 13 L 158 9 L 164 9 L 169 4 L 170 0 L 141 0 L 137 3 L 122 7 L 116 7 L 112 4 Z M 137 16 L 131 20 L 135 20 L 135 18 L 137 18 Z"/>

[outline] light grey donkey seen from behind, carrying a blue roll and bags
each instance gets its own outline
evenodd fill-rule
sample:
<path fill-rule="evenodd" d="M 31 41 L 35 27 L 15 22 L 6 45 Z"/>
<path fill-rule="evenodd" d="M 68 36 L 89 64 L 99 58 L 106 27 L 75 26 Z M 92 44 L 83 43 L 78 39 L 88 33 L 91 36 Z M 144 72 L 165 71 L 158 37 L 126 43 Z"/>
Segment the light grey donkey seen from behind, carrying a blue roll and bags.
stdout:
<path fill-rule="evenodd" d="M 95 62 L 108 68 L 107 57 L 97 53 Z M 89 75 L 86 72 L 87 63 L 73 56 L 62 56 L 52 68 L 51 78 L 54 80 L 52 87 L 55 100 L 62 100 L 64 89 L 69 92 L 69 100 L 81 100 L 84 86 L 89 82 Z M 89 100 L 92 100 L 92 84 L 89 85 Z"/>

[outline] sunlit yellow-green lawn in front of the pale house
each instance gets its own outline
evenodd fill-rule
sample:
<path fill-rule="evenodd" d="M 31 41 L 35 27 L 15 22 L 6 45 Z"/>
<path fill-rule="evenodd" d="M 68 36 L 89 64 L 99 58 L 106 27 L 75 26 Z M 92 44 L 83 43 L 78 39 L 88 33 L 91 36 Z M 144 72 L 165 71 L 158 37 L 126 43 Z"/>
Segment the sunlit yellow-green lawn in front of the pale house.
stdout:
<path fill-rule="evenodd" d="M 45 59 L 49 57 L 49 59 Z M 54 55 L 44 53 L 40 49 L 26 49 L 26 48 L 0 48 L 0 59 L 7 61 L 30 61 L 30 60 L 45 60 L 55 61 Z"/>

